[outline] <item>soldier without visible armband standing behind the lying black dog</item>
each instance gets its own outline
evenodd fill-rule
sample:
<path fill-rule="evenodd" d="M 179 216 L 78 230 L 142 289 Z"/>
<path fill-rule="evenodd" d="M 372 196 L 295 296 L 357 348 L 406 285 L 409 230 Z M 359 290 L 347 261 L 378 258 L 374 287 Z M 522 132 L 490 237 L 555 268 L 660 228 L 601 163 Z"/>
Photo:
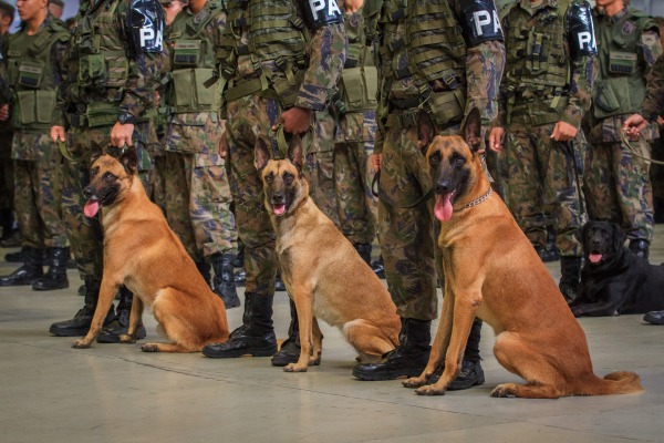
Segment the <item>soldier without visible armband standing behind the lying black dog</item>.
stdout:
<path fill-rule="evenodd" d="M 649 166 L 621 142 L 621 131 L 625 119 L 639 111 L 651 68 L 663 52 L 658 27 L 623 0 L 598 0 L 593 18 L 599 71 L 584 169 L 588 213 L 592 219 L 619 224 L 630 249 L 647 259 L 654 230 Z M 658 137 L 655 125 L 650 130 L 637 147 L 647 155 Z"/>

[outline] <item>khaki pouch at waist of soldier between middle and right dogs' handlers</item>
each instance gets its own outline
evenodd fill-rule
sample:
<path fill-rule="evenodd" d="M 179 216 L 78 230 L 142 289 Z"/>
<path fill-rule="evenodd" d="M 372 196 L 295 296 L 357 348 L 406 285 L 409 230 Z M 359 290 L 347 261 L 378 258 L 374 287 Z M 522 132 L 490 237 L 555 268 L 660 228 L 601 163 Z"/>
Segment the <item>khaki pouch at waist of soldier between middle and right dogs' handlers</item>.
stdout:
<path fill-rule="evenodd" d="M 346 112 L 376 109 L 378 73 L 375 66 L 344 69 L 341 81 Z"/>

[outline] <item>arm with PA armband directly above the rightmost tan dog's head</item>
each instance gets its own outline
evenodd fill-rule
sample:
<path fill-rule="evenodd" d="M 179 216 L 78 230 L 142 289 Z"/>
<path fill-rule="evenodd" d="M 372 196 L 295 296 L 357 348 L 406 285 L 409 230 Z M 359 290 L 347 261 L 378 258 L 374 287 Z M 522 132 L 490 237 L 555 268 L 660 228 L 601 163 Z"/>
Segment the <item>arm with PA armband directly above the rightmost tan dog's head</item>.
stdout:
<path fill-rule="evenodd" d="M 486 127 L 498 114 L 498 91 L 505 68 L 502 29 L 494 0 L 459 0 L 457 11 L 458 8 L 468 47 L 465 114 L 477 107 Z"/>

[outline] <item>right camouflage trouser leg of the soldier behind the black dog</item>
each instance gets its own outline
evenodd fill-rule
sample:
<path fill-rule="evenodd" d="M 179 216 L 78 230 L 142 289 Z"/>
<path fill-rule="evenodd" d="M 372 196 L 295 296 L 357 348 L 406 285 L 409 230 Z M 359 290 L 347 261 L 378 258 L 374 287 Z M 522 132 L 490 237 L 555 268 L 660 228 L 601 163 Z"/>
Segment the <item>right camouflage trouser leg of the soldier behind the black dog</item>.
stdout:
<path fill-rule="evenodd" d="M 642 155 L 650 156 L 651 146 L 646 141 L 633 142 L 632 146 Z M 649 165 L 642 158 L 632 155 L 622 143 L 612 143 L 611 148 L 614 158 L 612 163 L 615 176 L 614 193 L 621 214 L 619 224 L 627 235 L 630 249 L 647 258 L 655 225 Z"/>

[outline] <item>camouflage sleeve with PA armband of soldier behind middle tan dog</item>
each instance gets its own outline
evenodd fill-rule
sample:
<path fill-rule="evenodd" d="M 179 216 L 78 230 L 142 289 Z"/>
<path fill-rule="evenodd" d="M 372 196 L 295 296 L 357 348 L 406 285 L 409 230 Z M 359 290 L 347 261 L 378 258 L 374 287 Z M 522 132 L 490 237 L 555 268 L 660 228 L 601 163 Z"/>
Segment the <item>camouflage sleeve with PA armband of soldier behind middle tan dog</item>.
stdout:
<path fill-rule="evenodd" d="M 308 51 L 309 68 L 304 73 L 295 106 L 322 111 L 336 89 L 345 63 L 343 14 L 335 0 L 302 1 L 300 4 L 307 16 L 305 22 L 312 37 Z M 312 4 L 321 9 L 313 10 Z"/>

